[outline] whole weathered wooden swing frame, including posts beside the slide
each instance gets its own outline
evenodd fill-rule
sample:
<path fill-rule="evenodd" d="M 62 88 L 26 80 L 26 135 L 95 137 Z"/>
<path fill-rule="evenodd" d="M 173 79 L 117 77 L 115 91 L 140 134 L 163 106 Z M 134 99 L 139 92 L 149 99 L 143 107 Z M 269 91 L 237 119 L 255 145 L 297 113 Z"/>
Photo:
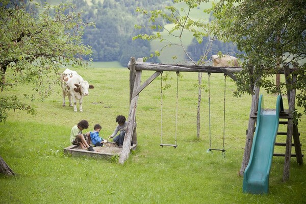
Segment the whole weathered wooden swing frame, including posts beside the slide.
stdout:
<path fill-rule="evenodd" d="M 163 71 L 223 73 L 226 74 L 228 77 L 232 78 L 234 81 L 236 81 L 234 73 L 241 71 L 240 67 L 212 67 L 212 66 L 200 66 L 200 65 L 169 65 L 169 64 L 145 63 L 142 62 L 142 58 L 139 58 L 136 62 L 135 58 L 133 57 L 131 58 L 131 61 L 127 65 L 127 68 L 130 69 L 130 112 L 129 112 L 129 117 L 127 119 L 127 128 L 124 137 L 124 143 L 119 157 L 119 163 L 121 164 L 123 164 L 129 158 L 131 141 L 137 144 L 136 127 L 134 126 L 134 124 L 136 124 L 135 123 L 136 109 L 137 109 L 137 101 L 139 93 L 142 90 L 144 90 L 152 81 L 154 81 Z M 146 81 L 144 81 L 144 83 L 141 84 L 141 72 L 143 70 L 155 71 L 155 72 Z M 296 75 L 292 75 L 292 78 L 290 78 L 290 74 L 293 70 L 295 70 L 295 68 L 284 67 L 283 70 L 285 72 L 281 72 L 282 71 L 281 70 L 279 73 L 285 74 L 286 83 L 288 79 L 291 79 L 291 81 L 288 80 L 288 83 L 294 83 L 296 80 Z M 293 116 L 292 116 L 295 110 L 294 107 L 295 89 L 287 90 L 287 93 L 288 93 L 289 110 L 287 110 L 287 112 L 285 111 L 287 113 L 286 118 L 288 118 L 288 130 L 286 133 L 287 140 L 285 143 L 286 152 L 284 155 L 285 156 L 285 167 L 284 167 L 284 176 L 283 176 L 284 181 L 287 181 L 289 178 L 289 164 L 291 158 L 292 137 L 294 138 L 293 145 L 296 151 L 295 156 L 297 158 L 297 163 L 302 164 L 302 154 L 299 143 L 299 134 L 297 131 L 297 125 L 294 125 L 293 123 Z M 256 110 L 258 108 L 258 97 L 259 97 L 259 88 L 254 87 L 249 124 L 246 136 L 246 145 L 244 148 L 244 155 L 243 155 L 243 161 L 240 173 L 244 172 L 244 169 L 246 168 L 248 161 L 250 159 L 251 145 L 252 145 L 253 134 L 256 124 L 255 115 L 256 115 Z M 224 103 L 225 103 L 225 98 L 224 98 Z M 162 140 L 161 144 L 162 146 L 165 146 L 165 144 L 162 143 Z M 177 146 L 176 142 L 174 145 L 171 146 L 175 145 Z M 213 148 L 210 149 L 212 150 Z M 225 151 L 224 146 L 223 149 L 221 150 Z"/>

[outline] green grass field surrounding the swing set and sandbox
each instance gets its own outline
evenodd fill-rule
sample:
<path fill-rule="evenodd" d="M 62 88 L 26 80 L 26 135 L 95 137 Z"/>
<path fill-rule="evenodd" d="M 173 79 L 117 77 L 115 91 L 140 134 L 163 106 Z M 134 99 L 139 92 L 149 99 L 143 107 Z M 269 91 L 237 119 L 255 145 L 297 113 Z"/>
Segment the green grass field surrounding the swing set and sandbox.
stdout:
<path fill-rule="evenodd" d="M 18 174 L 0 175 L 1 203 L 303 203 L 306 196 L 306 168 L 295 158 L 290 165 L 290 181 L 282 182 L 284 158 L 272 161 L 269 193 L 242 193 L 243 177 L 238 176 L 245 145 L 251 98 L 232 97 L 235 84 L 227 79 L 225 155 L 209 148 L 208 93 L 203 91 L 201 133 L 196 138 L 197 73 L 182 73 L 179 82 L 177 148 L 160 147 L 160 77 L 144 89 L 137 107 L 138 148 L 124 165 L 116 157 L 97 159 L 63 154 L 70 145 L 71 127 L 87 119 L 91 131 L 103 126 L 100 135 L 108 137 L 115 129 L 115 117 L 129 113 L 129 70 L 127 68 L 77 68 L 94 85 L 83 100 L 83 113 L 62 107 L 61 88 L 45 101 L 33 101 L 37 114 L 10 111 L 0 123 L 0 155 Z M 152 72 L 143 71 L 144 82 Z M 163 97 L 163 140 L 174 142 L 175 73 L 167 81 L 171 88 Z M 207 74 L 203 73 L 207 84 Z M 222 74 L 211 75 L 212 146 L 222 148 Z M 2 94 L 31 91 L 16 87 Z M 264 93 L 264 92 L 263 92 Z M 273 108 L 276 96 L 264 93 L 265 107 Z M 27 101 L 26 99 L 24 99 Z M 287 98 L 284 97 L 285 109 Z M 31 103 L 31 101 L 28 101 Z M 79 105 L 78 105 L 79 108 Z M 302 152 L 305 148 L 305 117 L 299 123 Z M 284 127 L 281 127 L 284 128 Z M 279 136 L 278 140 L 284 140 Z M 284 148 L 275 148 L 284 152 Z M 293 150 L 294 151 L 294 150 Z"/>

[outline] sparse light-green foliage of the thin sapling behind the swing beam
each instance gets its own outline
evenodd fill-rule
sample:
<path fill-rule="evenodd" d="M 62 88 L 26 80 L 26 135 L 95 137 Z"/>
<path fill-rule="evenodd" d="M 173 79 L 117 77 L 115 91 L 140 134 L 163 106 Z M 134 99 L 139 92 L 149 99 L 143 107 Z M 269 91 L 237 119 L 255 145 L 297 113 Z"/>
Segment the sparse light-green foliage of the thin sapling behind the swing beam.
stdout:
<path fill-rule="evenodd" d="M 145 10 L 143 8 L 137 8 L 137 12 L 142 13 L 146 18 L 148 18 L 148 21 L 150 24 L 145 25 L 138 25 L 137 28 L 144 28 L 148 27 L 152 30 L 157 31 L 156 33 L 142 33 L 137 36 L 135 36 L 133 39 L 144 39 L 144 40 L 160 40 L 162 41 L 168 41 L 169 43 L 166 44 L 164 47 L 162 47 L 160 50 L 156 50 L 155 54 L 151 54 L 152 56 L 159 56 L 160 53 L 164 50 L 165 47 L 169 46 L 179 46 L 181 49 L 184 50 L 187 59 L 192 61 L 194 64 L 203 64 L 205 63 L 205 59 L 208 56 L 209 50 L 211 49 L 212 42 L 215 40 L 215 36 L 212 36 L 210 31 L 207 29 L 207 23 L 206 19 L 198 19 L 194 20 L 190 18 L 190 12 L 192 9 L 195 9 L 199 6 L 201 2 L 209 2 L 209 1 L 187 1 L 187 0 L 174 0 L 174 5 L 172 6 L 166 6 L 166 10 Z M 177 3 L 184 2 L 187 5 L 187 9 L 177 9 L 176 5 Z M 166 29 L 164 25 L 161 23 L 161 21 L 164 19 L 167 23 L 173 23 L 173 27 L 171 29 Z M 180 43 L 173 43 L 167 39 L 167 37 L 164 37 L 161 35 L 161 31 L 166 30 L 169 35 L 171 35 L 174 38 L 179 39 Z M 186 47 L 183 45 L 182 39 L 186 32 L 191 32 L 194 36 L 194 39 L 201 43 L 203 39 L 207 39 L 208 43 L 206 45 L 205 49 L 202 49 L 202 54 L 198 60 L 198 62 L 195 61 L 192 56 L 189 54 L 192 52 L 187 52 Z M 176 58 L 176 56 L 172 57 L 173 59 Z"/>

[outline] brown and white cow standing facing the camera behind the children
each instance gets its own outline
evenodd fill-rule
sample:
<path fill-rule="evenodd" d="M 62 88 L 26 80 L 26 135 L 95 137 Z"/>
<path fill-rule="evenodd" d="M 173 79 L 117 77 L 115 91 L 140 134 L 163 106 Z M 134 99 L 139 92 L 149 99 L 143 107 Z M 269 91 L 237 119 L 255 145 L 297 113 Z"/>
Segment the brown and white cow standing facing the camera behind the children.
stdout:
<path fill-rule="evenodd" d="M 84 81 L 81 75 L 76 71 L 66 69 L 61 74 L 62 89 L 63 89 L 63 106 L 65 104 L 65 97 L 68 96 L 69 106 L 72 106 L 71 97 L 73 99 L 74 111 L 77 112 L 77 100 L 80 104 L 80 112 L 83 112 L 82 101 L 83 97 L 88 95 L 88 89 L 93 89 L 92 85 L 89 85 L 87 81 Z"/>

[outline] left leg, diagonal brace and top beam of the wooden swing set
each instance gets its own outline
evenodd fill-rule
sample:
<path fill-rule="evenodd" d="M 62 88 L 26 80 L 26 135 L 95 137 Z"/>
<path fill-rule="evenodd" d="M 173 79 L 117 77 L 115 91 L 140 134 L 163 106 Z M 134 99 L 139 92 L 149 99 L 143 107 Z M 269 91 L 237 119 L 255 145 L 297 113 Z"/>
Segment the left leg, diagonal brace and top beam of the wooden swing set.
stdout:
<path fill-rule="evenodd" d="M 123 164 L 127 158 L 129 158 L 129 143 L 133 141 L 137 144 L 136 127 L 134 127 L 136 121 L 136 108 L 139 93 L 145 89 L 152 81 L 154 81 L 163 71 L 175 71 L 179 72 L 204 72 L 204 73 L 226 73 L 229 77 L 236 81 L 236 77 L 233 73 L 239 72 L 240 67 L 212 67 L 212 66 L 199 66 L 199 65 L 167 65 L 167 64 L 155 64 L 142 62 L 142 58 L 139 58 L 136 62 L 135 58 L 131 58 L 131 61 L 127 65 L 130 68 L 130 113 L 127 119 L 126 134 L 124 137 L 124 143 L 122 151 L 119 157 L 119 163 Z M 155 71 L 143 84 L 141 84 L 141 73 L 143 70 Z M 177 80 L 178 87 L 178 80 Z M 177 88 L 178 92 L 178 88 Z M 178 93 L 177 93 L 178 94 Z M 177 123 L 177 121 L 176 121 Z M 161 136 L 161 146 L 177 146 L 176 139 L 174 144 L 163 144 Z M 211 147 L 211 146 L 210 146 Z M 224 149 L 224 148 L 223 148 Z"/>

